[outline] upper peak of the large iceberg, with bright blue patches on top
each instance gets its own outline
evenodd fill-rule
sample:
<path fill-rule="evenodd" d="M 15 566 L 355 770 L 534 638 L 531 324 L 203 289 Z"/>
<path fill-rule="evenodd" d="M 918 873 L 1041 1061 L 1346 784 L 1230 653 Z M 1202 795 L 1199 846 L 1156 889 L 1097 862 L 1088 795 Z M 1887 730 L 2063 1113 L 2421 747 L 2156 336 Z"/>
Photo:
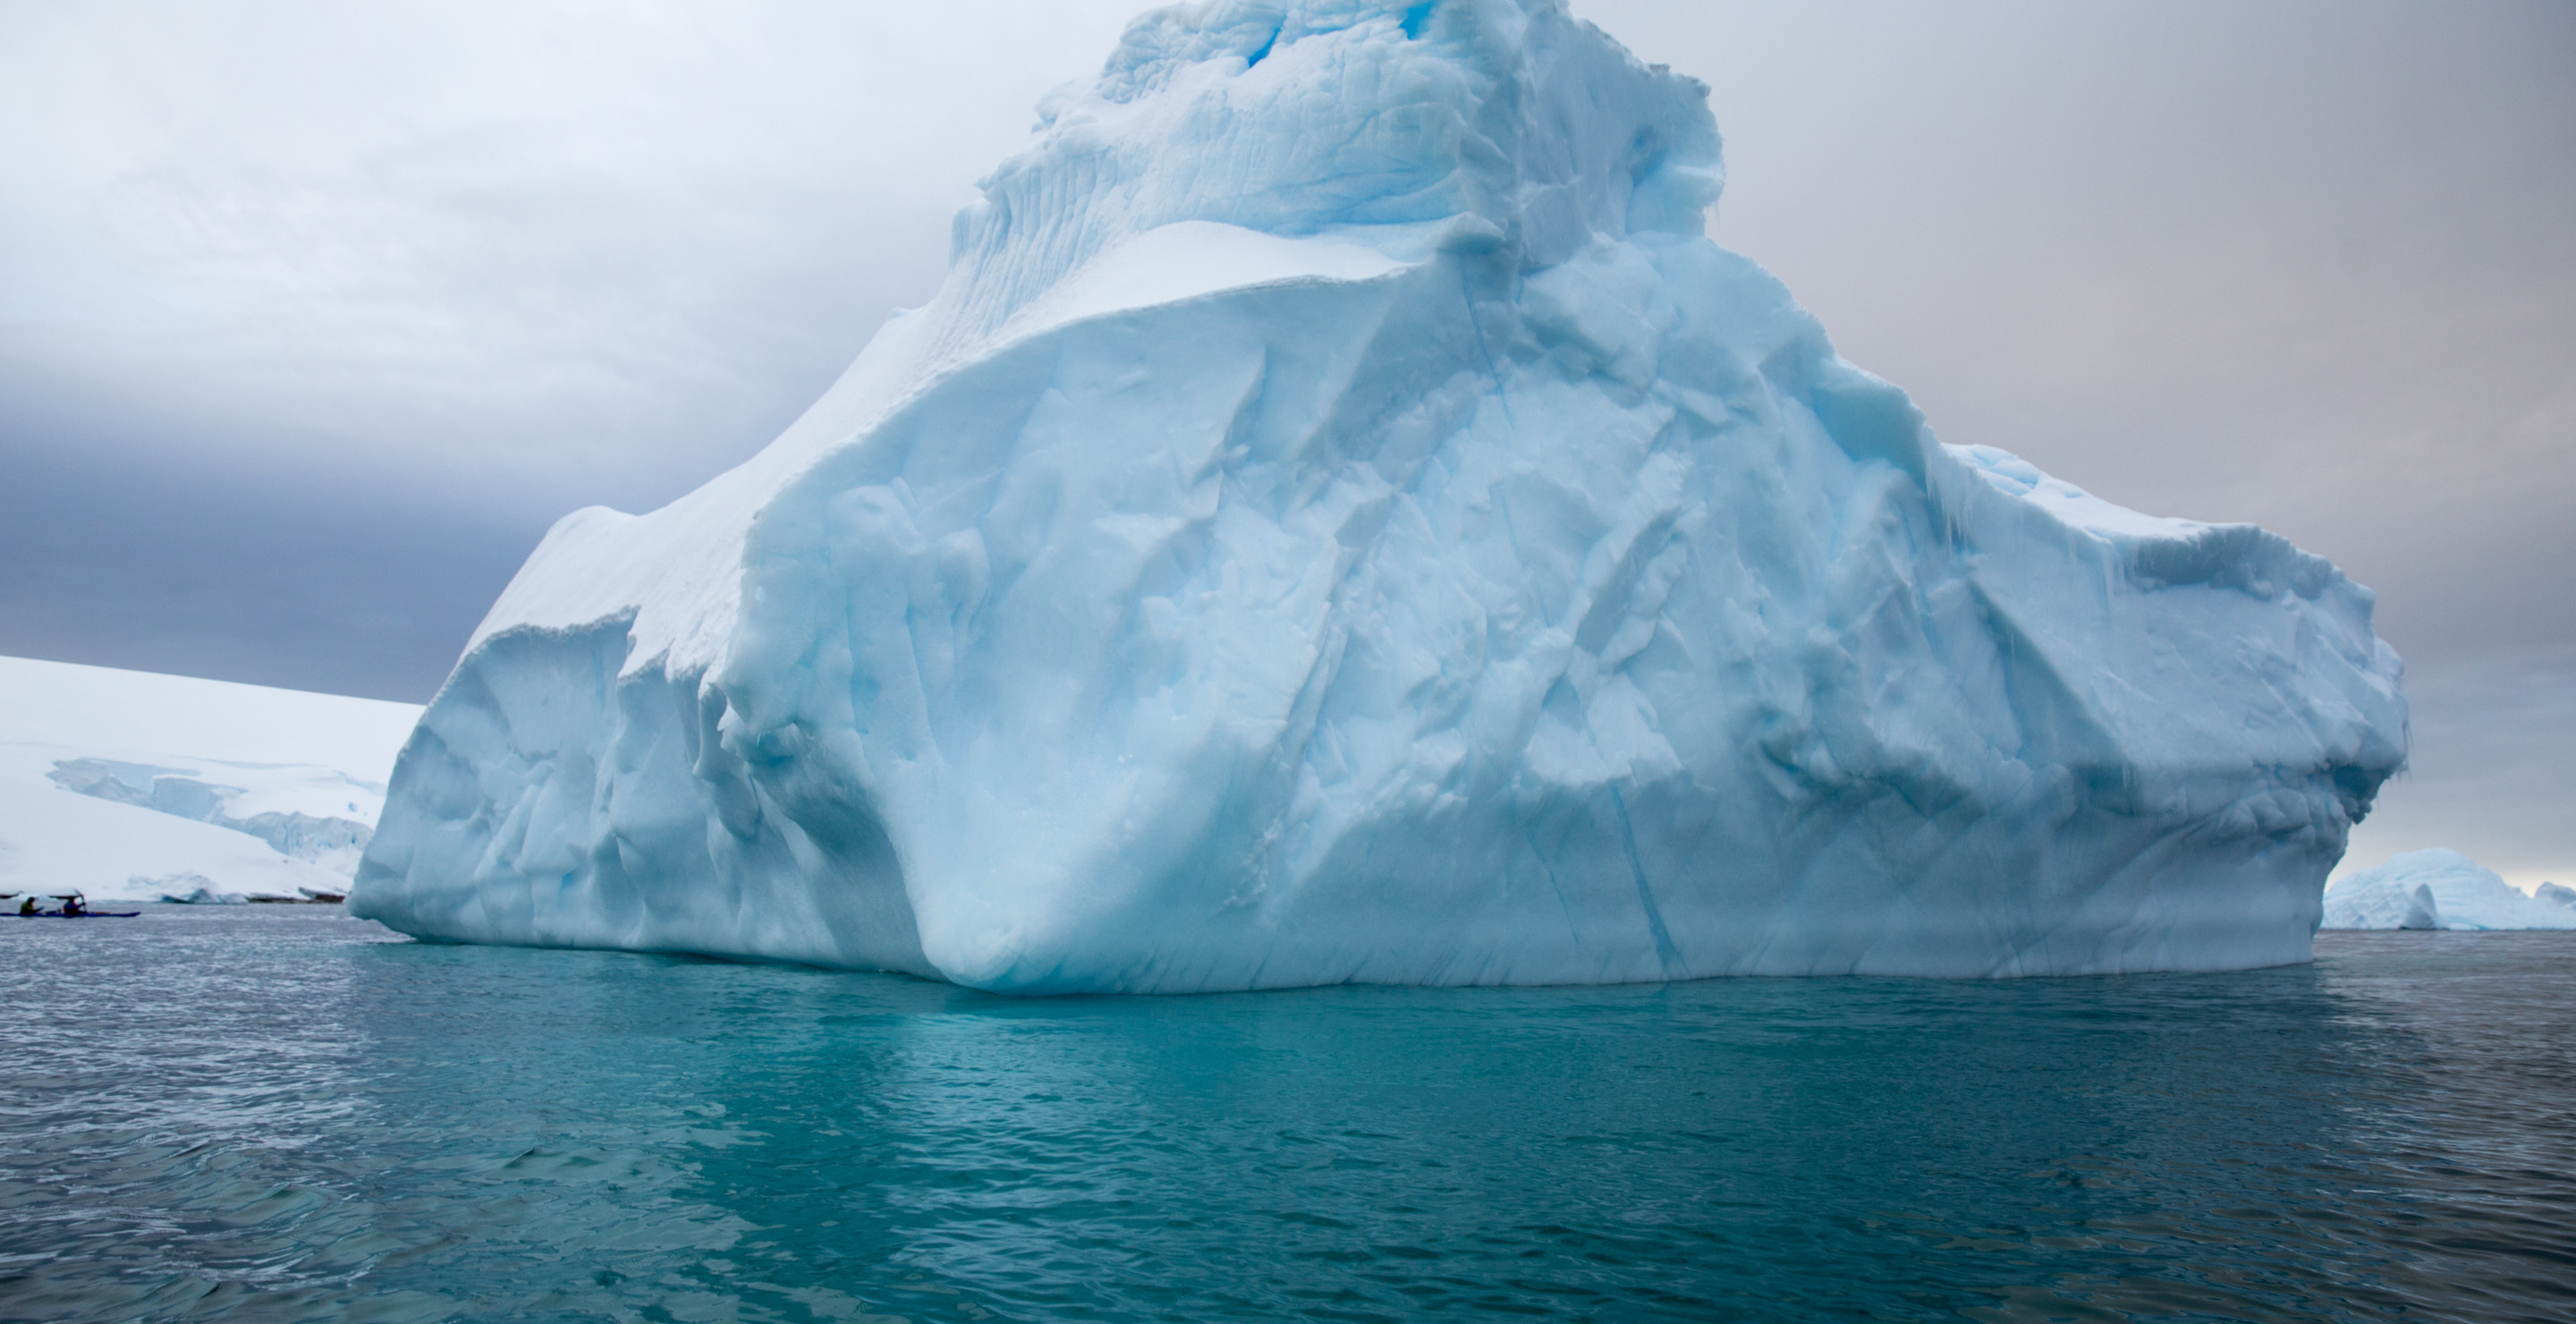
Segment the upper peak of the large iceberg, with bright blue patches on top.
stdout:
<path fill-rule="evenodd" d="M 1700 234 L 1721 183 L 1705 88 L 1512 0 L 1157 10 L 1038 116 L 956 219 L 948 343 L 1172 224 L 1546 268 L 1595 234 Z"/>

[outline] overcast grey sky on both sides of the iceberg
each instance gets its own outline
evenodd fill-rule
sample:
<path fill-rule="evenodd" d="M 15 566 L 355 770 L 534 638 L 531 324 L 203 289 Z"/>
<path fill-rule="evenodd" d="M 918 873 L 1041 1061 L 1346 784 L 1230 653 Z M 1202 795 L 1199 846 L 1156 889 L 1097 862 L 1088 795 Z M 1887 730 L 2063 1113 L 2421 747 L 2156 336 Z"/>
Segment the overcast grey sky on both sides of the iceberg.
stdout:
<path fill-rule="evenodd" d="M 750 456 L 1126 0 L 0 0 L 0 652 L 422 701 L 544 528 Z M 2357 863 L 2576 881 L 2576 5 L 1577 0 L 1718 242 L 2123 505 L 2380 590 Z"/>

